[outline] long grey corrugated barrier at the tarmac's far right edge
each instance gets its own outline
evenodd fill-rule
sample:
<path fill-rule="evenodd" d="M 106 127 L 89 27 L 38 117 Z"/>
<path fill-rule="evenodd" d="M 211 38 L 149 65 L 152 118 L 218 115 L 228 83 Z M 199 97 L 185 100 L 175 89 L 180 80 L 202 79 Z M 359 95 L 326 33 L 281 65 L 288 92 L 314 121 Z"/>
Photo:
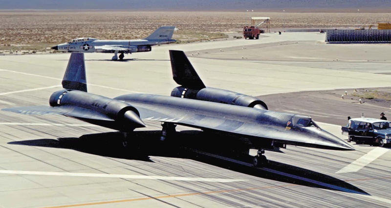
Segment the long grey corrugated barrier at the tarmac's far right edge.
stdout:
<path fill-rule="evenodd" d="M 391 30 L 326 30 L 330 43 L 391 43 Z"/>

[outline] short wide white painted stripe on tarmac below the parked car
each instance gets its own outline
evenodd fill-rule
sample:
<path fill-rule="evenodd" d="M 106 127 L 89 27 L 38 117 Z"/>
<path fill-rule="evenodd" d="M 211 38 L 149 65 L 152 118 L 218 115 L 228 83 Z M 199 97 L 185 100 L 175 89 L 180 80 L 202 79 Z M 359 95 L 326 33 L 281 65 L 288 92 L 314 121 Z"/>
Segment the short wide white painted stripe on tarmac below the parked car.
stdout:
<path fill-rule="evenodd" d="M 388 151 L 389 149 L 387 148 L 376 147 L 367 154 L 361 156 L 359 159 L 355 160 L 353 163 L 350 163 L 348 166 L 338 170 L 336 173 L 357 172 Z"/>

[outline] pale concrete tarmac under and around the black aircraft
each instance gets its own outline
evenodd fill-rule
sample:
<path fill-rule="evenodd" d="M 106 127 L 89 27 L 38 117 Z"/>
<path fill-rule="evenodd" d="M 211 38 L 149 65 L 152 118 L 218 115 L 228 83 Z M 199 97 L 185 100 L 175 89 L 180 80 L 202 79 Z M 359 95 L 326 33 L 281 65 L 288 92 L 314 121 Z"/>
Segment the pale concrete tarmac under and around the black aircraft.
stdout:
<path fill-rule="evenodd" d="M 108 97 L 138 92 L 170 95 L 177 85 L 169 49 L 186 51 L 207 86 L 253 96 L 390 86 L 390 60 L 362 60 L 364 49 L 371 57 L 383 56 L 378 45 L 351 50 L 350 45 L 323 45 L 324 34 L 267 36 L 154 46 L 152 52 L 128 55 L 123 62 L 110 61 L 111 54 L 86 54 L 88 90 Z M 297 43 L 285 45 L 290 50 L 286 53 L 284 42 Z M 317 50 L 317 45 L 324 49 Z M 333 51 L 344 50 L 349 56 L 332 61 Z M 303 54 L 312 60 L 300 60 Z M 0 108 L 47 105 L 51 93 L 61 89 L 68 59 L 68 53 L 0 56 Z M 316 102 L 322 100 L 311 104 Z M 300 104 L 298 100 L 295 106 Z M 330 111 L 338 105 L 331 102 L 326 107 L 325 116 L 333 117 Z M 147 122 L 147 128 L 139 129 L 135 139 L 148 146 L 130 151 L 119 148 L 119 133 L 100 126 L 62 116 L 4 111 L 0 115 L 0 207 L 391 206 L 388 148 L 352 144 L 357 151 L 336 151 L 288 146 L 282 152 L 267 151 L 269 165 L 254 168 L 249 161 L 214 152 L 162 145 L 155 139 L 159 123 Z M 319 123 L 322 128 L 347 139 L 340 134 L 340 125 L 324 122 Z M 228 143 L 205 141 L 196 129 L 177 130 L 181 141 L 216 146 L 217 152 L 230 148 Z"/>

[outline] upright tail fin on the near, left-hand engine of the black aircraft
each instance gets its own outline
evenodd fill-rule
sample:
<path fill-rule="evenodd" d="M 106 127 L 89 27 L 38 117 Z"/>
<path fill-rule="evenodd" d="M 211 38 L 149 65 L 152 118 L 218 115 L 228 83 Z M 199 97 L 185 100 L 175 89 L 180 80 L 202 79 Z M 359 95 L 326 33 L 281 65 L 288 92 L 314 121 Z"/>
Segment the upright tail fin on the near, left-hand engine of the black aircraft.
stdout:
<path fill-rule="evenodd" d="M 66 66 L 63 78 L 65 89 L 74 89 L 87 92 L 86 64 L 84 53 L 72 52 Z"/>

